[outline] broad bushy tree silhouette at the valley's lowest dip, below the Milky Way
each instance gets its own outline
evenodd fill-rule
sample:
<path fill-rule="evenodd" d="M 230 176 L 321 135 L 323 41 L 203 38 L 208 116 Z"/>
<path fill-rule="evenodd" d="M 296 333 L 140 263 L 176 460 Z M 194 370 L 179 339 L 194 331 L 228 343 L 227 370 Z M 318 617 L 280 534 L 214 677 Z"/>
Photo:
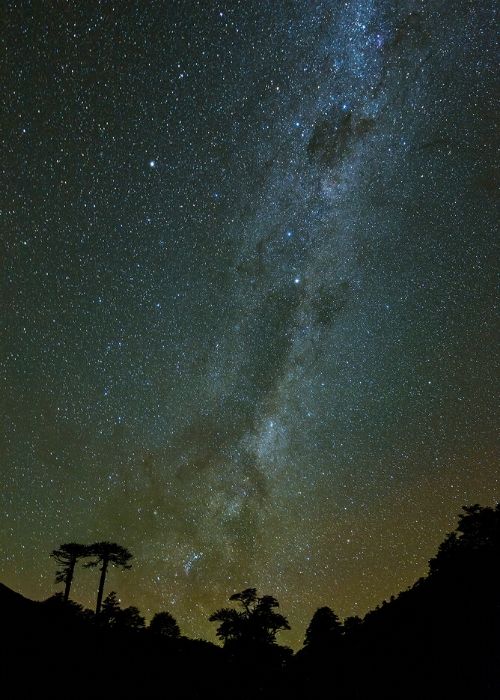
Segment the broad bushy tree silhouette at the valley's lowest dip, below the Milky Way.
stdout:
<path fill-rule="evenodd" d="M 288 620 L 275 612 L 279 607 L 276 598 L 270 595 L 257 597 L 256 588 L 246 588 L 235 593 L 229 600 L 236 601 L 241 610 L 221 608 L 209 617 L 210 622 L 219 622 L 217 636 L 224 644 L 244 643 L 272 645 L 280 630 L 289 630 Z"/>

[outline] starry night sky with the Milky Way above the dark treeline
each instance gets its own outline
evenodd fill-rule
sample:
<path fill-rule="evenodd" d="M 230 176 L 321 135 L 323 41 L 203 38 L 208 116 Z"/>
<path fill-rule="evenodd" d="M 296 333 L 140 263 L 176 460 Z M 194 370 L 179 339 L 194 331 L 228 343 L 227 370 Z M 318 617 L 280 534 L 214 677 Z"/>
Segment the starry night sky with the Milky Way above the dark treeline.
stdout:
<path fill-rule="evenodd" d="M 413 583 L 500 496 L 494 3 L 2 5 L 1 580 L 294 647 Z"/>

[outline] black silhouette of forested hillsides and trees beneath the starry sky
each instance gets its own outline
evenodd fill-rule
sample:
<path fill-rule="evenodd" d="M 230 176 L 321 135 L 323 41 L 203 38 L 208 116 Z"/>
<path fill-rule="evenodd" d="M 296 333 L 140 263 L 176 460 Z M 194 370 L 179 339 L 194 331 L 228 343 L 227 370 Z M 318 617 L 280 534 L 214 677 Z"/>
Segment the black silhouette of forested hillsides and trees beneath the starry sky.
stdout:
<path fill-rule="evenodd" d="M 125 547 L 51 557 L 62 593 L 37 602 L 0 584 L 4 697 L 500 698 L 500 503 L 464 507 L 428 575 L 363 619 L 318 608 L 295 654 L 277 642 L 290 629 L 278 601 L 255 588 L 210 616 L 219 646 L 184 637 L 168 611 L 146 626 L 104 597 L 109 567 L 132 565 Z M 80 563 L 100 572 L 95 612 L 69 597 Z"/>

